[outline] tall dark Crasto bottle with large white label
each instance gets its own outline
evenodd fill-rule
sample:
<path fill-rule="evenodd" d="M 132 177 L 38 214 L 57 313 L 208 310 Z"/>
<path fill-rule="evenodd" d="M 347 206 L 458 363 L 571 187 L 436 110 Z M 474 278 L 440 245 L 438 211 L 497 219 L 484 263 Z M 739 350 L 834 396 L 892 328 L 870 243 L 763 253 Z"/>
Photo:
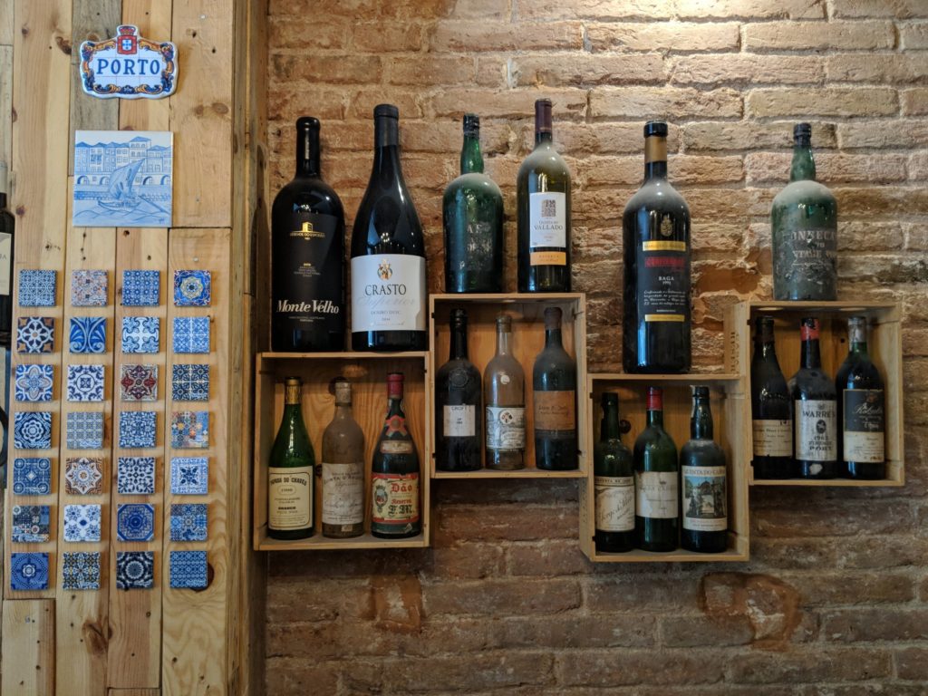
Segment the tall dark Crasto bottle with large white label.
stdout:
<path fill-rule="evenodd" d="M 421 351 L 425 244 L 400 168 L 399 110 L 374 108 L 374 168 L 351 238 L 352 348 Z"/>

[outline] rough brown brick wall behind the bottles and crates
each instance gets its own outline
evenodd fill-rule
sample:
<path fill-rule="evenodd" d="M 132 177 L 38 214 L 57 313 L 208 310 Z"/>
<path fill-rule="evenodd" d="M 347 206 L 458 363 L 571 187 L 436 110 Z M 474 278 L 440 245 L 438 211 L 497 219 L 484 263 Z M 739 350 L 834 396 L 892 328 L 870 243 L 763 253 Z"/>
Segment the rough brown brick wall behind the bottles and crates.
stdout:
<path fill-rule="evenodd" d="M 724 307 L 769 297 L 767 213 L 793 122 L 813 123 L 841 206 L 840 291 L 905 304 L 903 490 L 754 490 L 746 565 L 593 565 L 576 484 L 434 485 L 434 548 L 272 555 L 276 693 L 909 694 L 928 683 L 928 2 L 926 0 L 272 0 L 273 190 L 291 124 L 323 120 L 349 217 L 371 109 L 400 108 L 407 182 L 441 277 L 441 194 L 460 116 L 515 208 L 533 102 L 554 101 L 574 174 L 574 282 L 590 369 L 619 367 L 619 219 L 642 123 L 671 123 L 693 214 L 698 362 Z M 350 227 L 349 227 L 350 228 Z M 509 289 L 515 226 L 507 227 Z"/>

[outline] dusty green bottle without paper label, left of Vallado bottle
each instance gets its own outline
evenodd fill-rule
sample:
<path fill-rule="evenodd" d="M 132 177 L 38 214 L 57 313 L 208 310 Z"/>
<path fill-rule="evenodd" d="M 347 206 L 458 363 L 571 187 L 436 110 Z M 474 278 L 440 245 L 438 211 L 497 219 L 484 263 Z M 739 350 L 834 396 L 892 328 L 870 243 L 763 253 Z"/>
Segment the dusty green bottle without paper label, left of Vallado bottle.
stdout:
<path fill-rule="evenodd" d="M 445 292 L 503 291 L 503 194 L 483 174 L 480 117 L 464 115 L 461 175 L 445 188 Z"/>

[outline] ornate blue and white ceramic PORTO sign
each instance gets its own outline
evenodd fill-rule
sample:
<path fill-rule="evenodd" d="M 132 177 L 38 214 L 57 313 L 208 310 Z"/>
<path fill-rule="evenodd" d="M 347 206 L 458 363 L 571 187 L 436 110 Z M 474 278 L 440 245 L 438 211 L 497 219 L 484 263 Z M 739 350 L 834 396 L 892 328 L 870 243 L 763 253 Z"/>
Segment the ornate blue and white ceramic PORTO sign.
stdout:
<path fill-rule="evenodd" d="M 81 84 L 91 97 L 160 99 L 177 86 L 177 46 L 138 35 L 123 24 L 106 41 L 81 44 Z"/>

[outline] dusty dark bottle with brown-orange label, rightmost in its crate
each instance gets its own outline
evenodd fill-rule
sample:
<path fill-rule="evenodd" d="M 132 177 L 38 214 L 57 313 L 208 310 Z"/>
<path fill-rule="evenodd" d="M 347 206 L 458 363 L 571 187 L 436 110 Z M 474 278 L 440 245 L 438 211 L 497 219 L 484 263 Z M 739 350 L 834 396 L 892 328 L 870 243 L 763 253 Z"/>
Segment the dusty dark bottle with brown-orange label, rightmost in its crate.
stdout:
<path fill-rule="evenodd" d="M 561 308 L 545 309 L 545 347 L 532 370 L 535 467 L 572 470 L 577 464 L 577 365 L 561 339 Z"/>

